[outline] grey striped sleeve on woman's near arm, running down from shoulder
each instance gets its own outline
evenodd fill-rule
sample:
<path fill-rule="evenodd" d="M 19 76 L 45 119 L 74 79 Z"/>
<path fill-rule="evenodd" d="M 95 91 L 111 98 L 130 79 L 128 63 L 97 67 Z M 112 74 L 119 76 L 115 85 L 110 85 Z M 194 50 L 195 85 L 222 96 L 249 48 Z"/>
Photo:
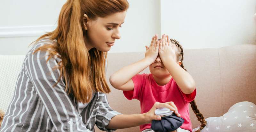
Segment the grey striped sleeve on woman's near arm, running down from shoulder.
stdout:
<path fill-rule="evenodd" d="M 58 58 L 48 59 L 48 52 L 38 51 L 28 54 L 26 70 L 36 93 L 39 95 L 47 114 L 56 131 L 88 131 L 77 112 L 75 102 L 65 92 L 63 78 L 56 84 L 60 71 L 52 69 L 57 66 Z M 60 59 L 59 59 L 60 60 Z"/>

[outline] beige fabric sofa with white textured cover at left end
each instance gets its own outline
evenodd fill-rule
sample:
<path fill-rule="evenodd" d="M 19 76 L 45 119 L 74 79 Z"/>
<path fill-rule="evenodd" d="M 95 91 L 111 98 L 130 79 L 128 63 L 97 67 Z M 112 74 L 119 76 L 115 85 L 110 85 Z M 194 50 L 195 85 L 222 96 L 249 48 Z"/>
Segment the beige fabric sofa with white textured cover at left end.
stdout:
<path fill-rule="evenodd" d="M 109 53 L 107 79 L 116 70 L 144 57 L 144 52 Z M 0 56 L 0 109 L 10 103 L 24 56 Z M 256 104 L 256 45 L 184 50 L 184 66 L 196 81 L 196 103 L 204 117 L 221 116 L 240 101 Z M 148 73 L 145 69 L 142 73 Z M 111 85 L 109 84 L 111 87 Z M 123 114 L 139 114 L 140 103 L 111 87 L 110 106 Z M 190 108 L 193 128 L 200 122 Z M 125 123 L 125 122 L 124 122 Z M 96 128 L 96 131 L 100 131 Z M 117 132 L 139 132 L 139 127 Z"/>

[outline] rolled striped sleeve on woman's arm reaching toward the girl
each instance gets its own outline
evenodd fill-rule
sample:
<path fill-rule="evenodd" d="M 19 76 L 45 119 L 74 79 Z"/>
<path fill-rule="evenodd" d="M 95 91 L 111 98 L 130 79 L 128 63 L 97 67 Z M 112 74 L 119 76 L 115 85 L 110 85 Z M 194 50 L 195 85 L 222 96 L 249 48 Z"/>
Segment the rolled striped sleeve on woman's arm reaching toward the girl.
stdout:
<path fill-rule="evenodd" d="M 106 126 L 109 124 L 111 118 L 119 115 L 120 113 L 110 108 L 106 94 L 102 93 L 99 94 L 99 96 L 102 96 L 102 102 L 100 103 L 100 107 L 96 115 L 96 126 L 103 131 L 115 131 L 115 129 L 107 129 Z"/>

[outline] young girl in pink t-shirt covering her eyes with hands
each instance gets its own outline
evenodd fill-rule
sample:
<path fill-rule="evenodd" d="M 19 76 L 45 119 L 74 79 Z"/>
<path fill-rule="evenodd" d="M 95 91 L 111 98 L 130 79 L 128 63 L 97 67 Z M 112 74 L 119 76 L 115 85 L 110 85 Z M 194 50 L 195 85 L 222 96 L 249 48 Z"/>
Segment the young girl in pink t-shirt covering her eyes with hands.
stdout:
<path fill-rule="evenodd" d="M 155 102 L 172 101 L 180 113 L 175 111 L 175 114 L 185 120 L 177 132 L 192 131 L 190 103 L 198 121 L 202 123 L 200 131 L 206 122 L 194 101 L 195 81 L 185 70 L 182 60 L 183 49 L 178 41 L 169 39 L 165 34 L 158 41 L 155 35 L 150 46 L 146 46 L 145 58 L 115 72 L 110 76 L 110 83 L 116 89 L 123 90 L 127 99 L 138 99 L 141 113 L 148 112 Z M 138 74 L 148 66 L 150 74 Z M 140 125 L 140 131 L 153 131 L 150 127 L 151 124 Z"/>

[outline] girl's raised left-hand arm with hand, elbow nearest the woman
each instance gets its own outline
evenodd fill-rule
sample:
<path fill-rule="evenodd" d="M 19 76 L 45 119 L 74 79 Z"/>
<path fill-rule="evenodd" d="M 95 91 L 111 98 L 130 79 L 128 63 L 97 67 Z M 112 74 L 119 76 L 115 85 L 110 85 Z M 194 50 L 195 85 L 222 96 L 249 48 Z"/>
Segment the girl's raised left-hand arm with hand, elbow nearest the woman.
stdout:
<path fill-rule="evenodd" d="M 141 59 L 129 66 L 124 66 L 120 70 L 116 71 L 109 78 L 110 84 L 119 90 L 130 91 L 133 90 L 134 84 L 132 77 L 140 73 L 142 70 L 152 64 L 158 55 L 159 43 L 158 36 L 155 35 L 152 38 L 149 47 L 146 46 L 145 58 Z"/>

